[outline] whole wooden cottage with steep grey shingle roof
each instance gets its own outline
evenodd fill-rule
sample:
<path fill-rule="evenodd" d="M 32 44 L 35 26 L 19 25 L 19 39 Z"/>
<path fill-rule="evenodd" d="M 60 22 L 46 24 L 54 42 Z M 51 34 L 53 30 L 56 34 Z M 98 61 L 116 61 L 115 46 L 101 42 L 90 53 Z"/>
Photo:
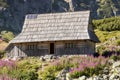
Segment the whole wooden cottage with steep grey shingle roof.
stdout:
<path fill-rule="evenodd" d="M 95 53 L 99 42 L 90 11 L 29 14 L 22 32 L 7 49 L 9 57 Z"/>

